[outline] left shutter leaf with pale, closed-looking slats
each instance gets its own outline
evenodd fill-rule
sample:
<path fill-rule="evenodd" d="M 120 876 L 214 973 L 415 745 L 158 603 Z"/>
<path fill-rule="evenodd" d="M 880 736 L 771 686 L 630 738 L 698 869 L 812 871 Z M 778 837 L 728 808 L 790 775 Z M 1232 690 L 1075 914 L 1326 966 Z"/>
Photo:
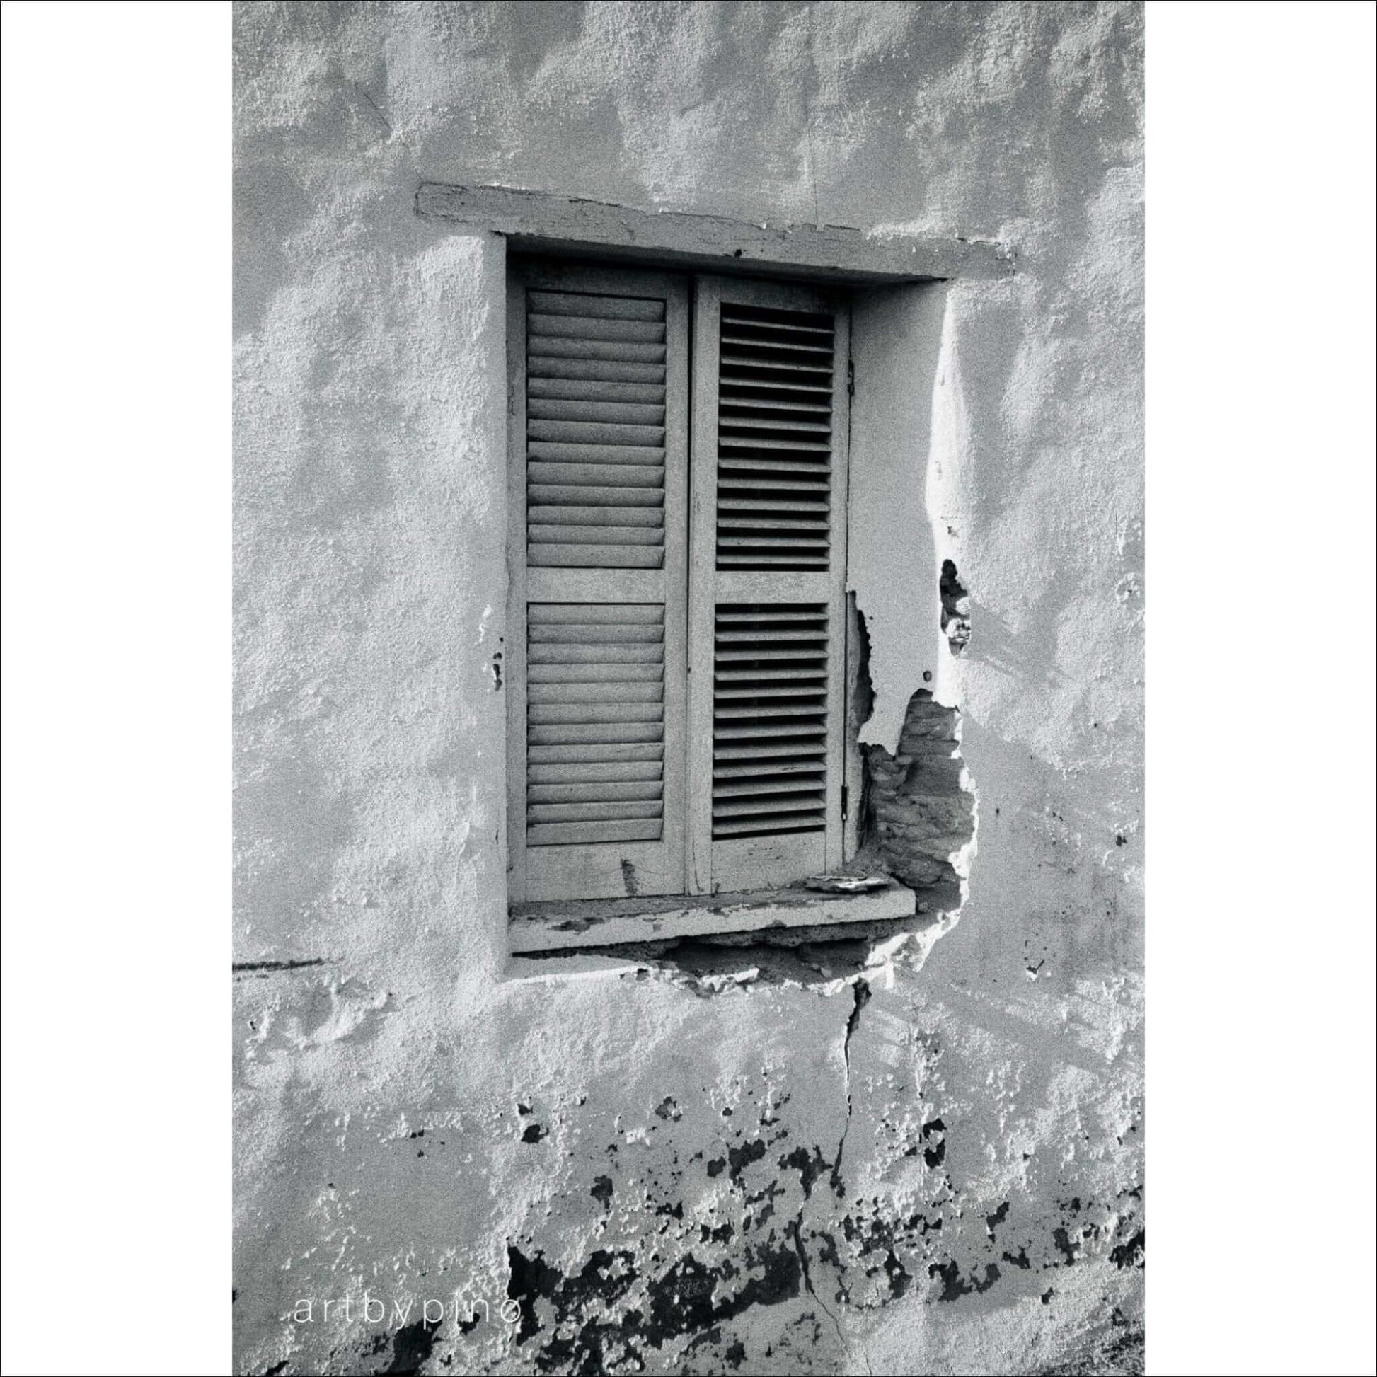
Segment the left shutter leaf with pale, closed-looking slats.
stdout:
<path fill-rule="evenodd" d="M 518 267 L 508 353 L 509 895 L 677 894 L 687 285 Z"/>

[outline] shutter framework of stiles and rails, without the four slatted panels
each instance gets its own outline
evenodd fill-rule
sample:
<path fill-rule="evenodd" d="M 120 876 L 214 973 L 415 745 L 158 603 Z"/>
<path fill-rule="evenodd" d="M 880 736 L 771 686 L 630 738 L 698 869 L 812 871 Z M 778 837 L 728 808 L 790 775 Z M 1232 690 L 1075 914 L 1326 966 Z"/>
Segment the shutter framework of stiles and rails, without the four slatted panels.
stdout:
<path fill-rule="evenodd" d="M 527 291 L 603 291 L 666 302 L 665 559 L 660 570 L 533 569 L 527 563 Z M 834 318 L 832 489 L 826 571 L 716 569 L 717 343 L 723 302 L 826 311 Z M 683 347 L 673 340 L 682 329 Z M 766 891 L 845 863 L 844 800 L 855 752 L 847 686 L 854 658 L 847 580 L 850 293 L 826 284 L 746 275 L 551 262 L 507 264 L 508 355 L 508 907 L 647 896 Z M 683 519 L 671 522 L 679 504 Z M 607 598 L 616 584 L 618 596 Z M 660 841 L 532 847 L 526 839 L 527 607 L 544 600 L 660 602 L 665 607 L 664 829 Z M 713 618 L 722 602 L 817 602 L 828 609 L 823 829 L 742 839 L 712 836 Z M 635 888 L 624 876 L 638 877 Z M 677 883 L 673 877 L 677 876 Z"/>

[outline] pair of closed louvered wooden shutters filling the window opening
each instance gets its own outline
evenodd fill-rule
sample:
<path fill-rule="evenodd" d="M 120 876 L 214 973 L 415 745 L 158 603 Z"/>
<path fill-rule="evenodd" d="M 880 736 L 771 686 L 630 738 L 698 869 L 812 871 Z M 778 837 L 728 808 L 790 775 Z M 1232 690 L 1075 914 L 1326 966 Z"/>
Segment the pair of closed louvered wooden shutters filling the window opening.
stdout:
<path fill-rule="evenodd" d="M 843 863 L 844 293 L 514 263 L 514 903 Z"/>

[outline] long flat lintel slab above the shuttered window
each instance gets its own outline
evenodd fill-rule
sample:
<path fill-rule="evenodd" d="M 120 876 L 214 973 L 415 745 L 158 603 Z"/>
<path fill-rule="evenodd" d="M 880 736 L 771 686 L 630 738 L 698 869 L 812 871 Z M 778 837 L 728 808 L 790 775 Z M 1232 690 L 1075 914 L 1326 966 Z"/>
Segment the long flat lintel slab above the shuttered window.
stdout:
<path fill-rule="evenodd" d="M 756 224 L 504 186 L 423 182 L 416 193 L 416 213 L 425 220 L 504 234 L 522 252 L 581 257 L 596 252 L 610 260 L 653 262 L 661 269 L 766 270 L 775 277 L 806 275 L 814 282 L 852 286 L 994 278 L 1013 271 L 1008 251 L 1000 245 L 954 234 Z"/>

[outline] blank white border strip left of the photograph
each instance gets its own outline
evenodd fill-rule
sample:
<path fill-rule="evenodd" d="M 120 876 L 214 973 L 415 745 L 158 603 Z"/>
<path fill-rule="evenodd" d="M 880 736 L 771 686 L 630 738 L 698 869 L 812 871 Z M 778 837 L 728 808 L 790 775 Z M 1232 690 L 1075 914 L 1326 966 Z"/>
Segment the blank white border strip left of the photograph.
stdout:
<path fill-rule="evenodd" d="M 230 10 L 0 55 L 0 1366 L 227 1373 Z"/>

